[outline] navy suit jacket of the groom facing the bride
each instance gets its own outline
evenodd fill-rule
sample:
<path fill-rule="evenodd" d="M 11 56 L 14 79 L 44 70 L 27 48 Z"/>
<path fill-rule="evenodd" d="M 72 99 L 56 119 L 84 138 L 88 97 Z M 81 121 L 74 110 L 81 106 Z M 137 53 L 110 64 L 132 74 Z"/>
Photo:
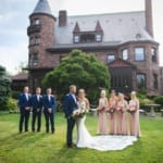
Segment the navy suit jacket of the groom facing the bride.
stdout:
<path fill-rule="evenodd" d="M 73 114 L 73 111 L 77 109 L 77 102 L 74 100 L 71 93 L 67 93 L 64 97 L 63 109 L 65 117 L 71 116 Z"/>

